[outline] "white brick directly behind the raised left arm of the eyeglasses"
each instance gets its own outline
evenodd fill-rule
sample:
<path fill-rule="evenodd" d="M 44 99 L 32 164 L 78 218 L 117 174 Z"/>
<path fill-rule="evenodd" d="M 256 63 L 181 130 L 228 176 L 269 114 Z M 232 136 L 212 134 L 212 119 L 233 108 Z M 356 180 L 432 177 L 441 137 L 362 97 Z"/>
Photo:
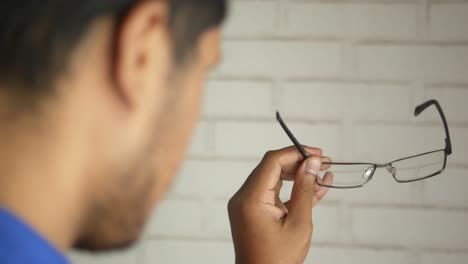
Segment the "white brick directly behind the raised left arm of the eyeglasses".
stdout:
<path fill-rule="evenodd" d="M 302 144 L 322 147 L 327 155 L 338 157 L 341 147 L 338 125 L 294 122 L 288 125 Z M 291 145 L 276 123 L 220 122 L 215 128 L 215 152 L 220 155 L 258 159 L 268 150 Z"/>

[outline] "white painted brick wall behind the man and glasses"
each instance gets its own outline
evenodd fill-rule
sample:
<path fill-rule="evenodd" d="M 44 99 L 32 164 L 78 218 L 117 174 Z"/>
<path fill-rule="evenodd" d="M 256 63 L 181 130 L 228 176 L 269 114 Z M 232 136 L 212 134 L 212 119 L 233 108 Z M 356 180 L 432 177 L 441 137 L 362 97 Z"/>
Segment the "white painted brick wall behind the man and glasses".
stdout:
<path fill-rule="evenodd" d="M 314 215 L 306 263 L 468 263 L 468 2 L 234 0 L 224 61 L 208 84 L 189 158 L 139 246 L 79 264 L 233 263 L 226 202 L 262 154 L 304 144 L 335 160 L 390 161 L 442 148 L 447 171 L 397 184 L 333 190 Z M 285 184 L 287 199 L 291 184 Z"/>

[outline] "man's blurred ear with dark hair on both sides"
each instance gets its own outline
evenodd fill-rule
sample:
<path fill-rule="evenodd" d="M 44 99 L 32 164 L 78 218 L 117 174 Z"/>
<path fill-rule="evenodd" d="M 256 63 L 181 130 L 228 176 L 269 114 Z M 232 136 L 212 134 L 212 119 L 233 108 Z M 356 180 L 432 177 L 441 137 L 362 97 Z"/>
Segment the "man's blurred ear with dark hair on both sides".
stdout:
<path fill-rule="evenodd" d="M 154 98 L 170 69 L 166 1 L 140 1 L 120 24 L 116 37 L 116 92 L 130 107 Z"/>

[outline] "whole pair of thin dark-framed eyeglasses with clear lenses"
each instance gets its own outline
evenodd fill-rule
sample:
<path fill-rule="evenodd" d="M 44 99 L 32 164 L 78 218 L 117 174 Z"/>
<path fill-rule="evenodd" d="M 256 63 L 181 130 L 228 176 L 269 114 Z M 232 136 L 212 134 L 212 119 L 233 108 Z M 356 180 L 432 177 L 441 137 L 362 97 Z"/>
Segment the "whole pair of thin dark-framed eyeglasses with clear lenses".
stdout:
<path fill-rule="evenodd" d="M 445 128 L 445 149 L 405 157 L 386 164 L 324 162 L 322 164 L 327 168 L 327 173 L 330 172 L 333 174 L 333 184 L 327 185 L 319 180 L 317 180 L 317 184 L 336 189 L 364 187 L 372 180 L 375 171 L 379 168 L 385 168 L 399 183 L 421 181 L 444 172 L 447 165 L 447 156 L 452 154 L 452 143 L 450 141 L 449 128 L 442 107 L 436 100 L 430 100 L 416 107 L 414 115 L 419 116 L 432 105 L 437 108 Z M 310 158 L 310 154 L 307 153 L 291 130 L 286 126 L 279 112 L 276 112 L 276 119 L 304 159 Z"/>

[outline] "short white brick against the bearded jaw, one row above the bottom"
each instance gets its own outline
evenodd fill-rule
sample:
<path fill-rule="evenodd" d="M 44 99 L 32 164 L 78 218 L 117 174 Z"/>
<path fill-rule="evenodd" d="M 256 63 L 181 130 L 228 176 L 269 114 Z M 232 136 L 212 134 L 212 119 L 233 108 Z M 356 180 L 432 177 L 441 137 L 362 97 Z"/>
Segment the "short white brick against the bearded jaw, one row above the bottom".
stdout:
<path fill-rule="evenodd" d="M 199 235 L 201 228 L 200 202 L 167 200 L 158 206 L 146 231 L 150 235 L 190 236 Z"/>

